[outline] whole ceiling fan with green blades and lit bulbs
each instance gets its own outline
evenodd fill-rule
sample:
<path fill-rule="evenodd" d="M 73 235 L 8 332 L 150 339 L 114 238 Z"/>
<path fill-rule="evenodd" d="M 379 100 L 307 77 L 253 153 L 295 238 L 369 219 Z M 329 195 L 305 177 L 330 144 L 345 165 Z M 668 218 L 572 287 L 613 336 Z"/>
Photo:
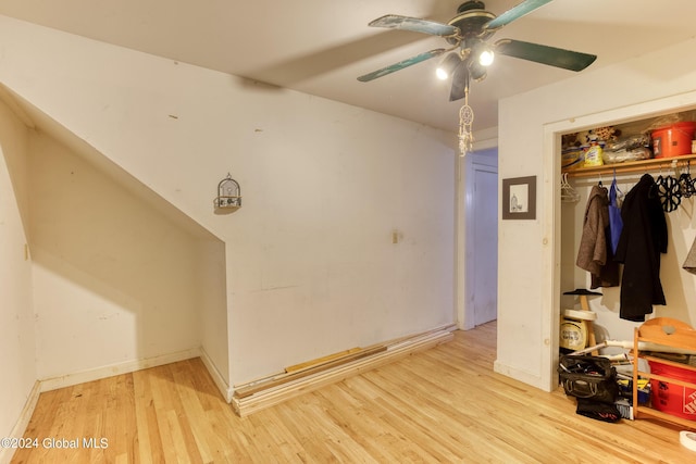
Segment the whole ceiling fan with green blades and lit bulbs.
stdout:
<path fill-rule="evenodd" d="M 438 67 L 440 78 L 452 77 L 449 101 L 464 98 L 471 79 L 478 81 L 486 77 L 486 66 L 493 62 L 494 54 L 514 57 L 549 66 L 570 71 L 582 71 L 597 57 L 571 50 L 531 43 L 514 39 L 500 39 L 494 45 L 487 40 L 502 26 L 533 12 L 552 0 L 525 0 L 496 16 L 485 10 L 482 1 L 469 0 L 460 4 L 457 15 L 447 24 L 417 17 L 387 14 L 372 21 L 369 26 L 405 29 L 443 37 L 449 48 L 438 48 L 382 67 L 358 77 L 360 81 L 370 81 L 386 76 L 413 64 L 445 54 Z"/>

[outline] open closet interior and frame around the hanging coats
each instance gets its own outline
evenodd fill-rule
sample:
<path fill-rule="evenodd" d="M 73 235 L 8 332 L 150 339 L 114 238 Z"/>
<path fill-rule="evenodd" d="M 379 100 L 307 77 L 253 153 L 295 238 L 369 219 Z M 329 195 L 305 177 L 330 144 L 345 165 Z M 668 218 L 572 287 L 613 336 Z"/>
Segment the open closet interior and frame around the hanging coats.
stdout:
<path fill-rule="evenodd" d="M 545 153 L 550 156 L 547 158 L 549 162 L 547 166 L 552 170 L 547 173 L 554 180 L 552 261 L 555 265 L 547 280 L 552 289 L 552 294 L 549 294 L 551 314 L 548 319 L 551 340 L 554 340 L 549 353 L 552 379 L 557 380 L 554 369 L 558 365 L 558 358 L 563 348 L 563 333 L 560 328 L 563 313 L 566 310 L 583 310 L 582 299 L 576 294 L 576 290 L 598 293 L 591 294 L 585 300 L 588 310 L 596 315 L 588 328 L 596 343 L 610 340 L 626 341 L 626 344 L 631 346 L 634 328 L 642 324 L 641 321 L 626 317 L 626 314 L 622 314 L 621 311 L 623 264 L 620 266 L 617 283 L 593 281 L 592 274 L 579 266 L 587 202 L 596 187 L 606 188 L 608 200 L 613 193 L 616 204 L 620 208 L 622 200 L 645 175 L 655 179 L 655 191 L 660 196 L 667 224 L 667 247 L 666 252 L 660 254 L 659 266 L 666 304 L 654 304 L 651 312 L 647 313 L 645 318 L 671 317 L 689 325 L 696 323 L 696 276 L 682 267 L 696 240 L 696 195 L 694 195 L 696 191 L 689 191 L 696 189 L 696 185 L 693 184 L 696 177 L 694 150 L 689 149 L 689 153 L 685 154 L 656 159 L 652 147 L 649 147 L 649 158 L 617 162 L 609 159 L 609 162 L 602 165 L 584 167 L 572 166 L 572 154 L 562 152 L 569 139 L 579 135 L 586 136 L 592 130 L 608 129 L 618 133 L 619 138 L 625 139 L 632 135 L 649 131 L 661 122 L 678 120 L 696 121 L 696 96 L 691 96 L 688 105 L 684 104 L 683 97 L 679 101 L 664 99 L 556 123 L 547 127 L 548 145 Z M 611 236 L 608 235 L 606 239 L 611 248 Z M 602 355 L 620 355 L 627 350 L 614 346 L 602 348 L 598 352 Z M 557 385 L 556 380 L 552 385 Z"/>

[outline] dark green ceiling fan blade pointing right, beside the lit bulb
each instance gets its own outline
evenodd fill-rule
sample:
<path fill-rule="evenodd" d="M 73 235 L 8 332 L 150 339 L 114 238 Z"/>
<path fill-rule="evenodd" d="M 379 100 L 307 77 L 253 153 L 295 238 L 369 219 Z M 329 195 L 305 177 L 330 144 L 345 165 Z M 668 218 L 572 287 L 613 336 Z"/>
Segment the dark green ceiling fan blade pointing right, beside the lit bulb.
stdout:
<path fill-rule="evenodd" d="M 570 71 L 583 71 L 597 59 L 595 54 L 512 39 L 498 40 L 495 45 L 495 51 L 496 53 L 508 57 L 534 61 Z"/>

